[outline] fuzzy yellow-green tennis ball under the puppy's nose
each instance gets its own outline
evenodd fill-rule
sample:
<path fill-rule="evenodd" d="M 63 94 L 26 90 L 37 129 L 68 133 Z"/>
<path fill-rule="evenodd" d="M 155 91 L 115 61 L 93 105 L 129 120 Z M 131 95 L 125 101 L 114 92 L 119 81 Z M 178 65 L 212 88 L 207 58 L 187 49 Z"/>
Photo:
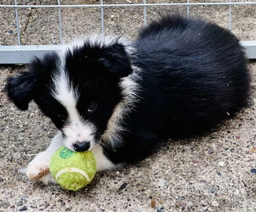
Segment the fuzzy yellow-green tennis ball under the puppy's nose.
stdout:
<path fill-rule="evenodd" d="M 62 146 L 51 157 L 50 173 L 62 188 L 82 189 L 96 173 L 94 155 L 91 151 L 74 152 Z"/>

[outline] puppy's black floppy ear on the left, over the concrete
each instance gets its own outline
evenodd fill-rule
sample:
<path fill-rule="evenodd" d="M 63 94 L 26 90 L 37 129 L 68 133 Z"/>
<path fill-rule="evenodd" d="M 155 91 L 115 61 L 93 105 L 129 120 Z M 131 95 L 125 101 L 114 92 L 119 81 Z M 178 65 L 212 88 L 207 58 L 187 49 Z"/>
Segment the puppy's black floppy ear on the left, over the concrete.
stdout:
<path fill-rule="evenodd" d="M 5 91 L 9 99 L 21 110 L 27 110 L 35 93 L 36 76 L 32 71 L 7 78 Z"/>

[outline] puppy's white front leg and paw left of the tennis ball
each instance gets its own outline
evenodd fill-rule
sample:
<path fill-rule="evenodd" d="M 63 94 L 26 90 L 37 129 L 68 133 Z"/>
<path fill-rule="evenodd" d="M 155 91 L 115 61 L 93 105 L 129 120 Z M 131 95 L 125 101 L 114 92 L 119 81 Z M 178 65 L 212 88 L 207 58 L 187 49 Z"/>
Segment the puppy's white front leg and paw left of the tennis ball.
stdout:
<path fill-rule="evenodd" d="M 44 184 L 56 183 L 49 171 L 50 158 L 62 145 L 62 133 L 59 132 L 53 137 L 49 147 L 45 151 L 38 153 L 29 163 L 26 168 L 26 176 L 30 180 L 38 180 Z"/>

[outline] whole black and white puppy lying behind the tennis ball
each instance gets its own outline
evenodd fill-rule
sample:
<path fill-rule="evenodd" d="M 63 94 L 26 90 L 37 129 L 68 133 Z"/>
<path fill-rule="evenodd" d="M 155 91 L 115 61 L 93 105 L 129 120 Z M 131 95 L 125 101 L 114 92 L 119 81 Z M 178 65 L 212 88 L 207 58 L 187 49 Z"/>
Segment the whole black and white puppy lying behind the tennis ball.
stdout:
<path fill-rule="evenodd" d="M 35 101 L 59 133 L 26 168 L 53 183 L 51 154 L 65 145 L 92 151 L 97 170 L 147 157 L 159 142 L 209 131 L 247 104 L 243 48 L 226 29 L 162 15 L 129 42 L 89 36 L 35 58 L 9 77 L 6 92 L 21 110 Z"/>

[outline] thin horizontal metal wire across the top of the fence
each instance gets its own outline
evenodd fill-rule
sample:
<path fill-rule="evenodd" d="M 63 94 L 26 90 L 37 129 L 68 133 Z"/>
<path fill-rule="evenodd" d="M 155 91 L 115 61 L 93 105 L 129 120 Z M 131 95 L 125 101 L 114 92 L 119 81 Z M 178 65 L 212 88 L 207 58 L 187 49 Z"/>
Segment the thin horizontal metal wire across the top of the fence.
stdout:
<path fill-rule="evenodd" d="M 144 7 L 144 6 L 219 6 L 219 5 L 256 5 L 256 2 L 212 2 L 212 3 L 141 3 L 141 4 L 88 4 L 88 5 L 0 5 L 0 7 L 12 7 L 12 8 L 54 8 L 54 7 Z"/>

